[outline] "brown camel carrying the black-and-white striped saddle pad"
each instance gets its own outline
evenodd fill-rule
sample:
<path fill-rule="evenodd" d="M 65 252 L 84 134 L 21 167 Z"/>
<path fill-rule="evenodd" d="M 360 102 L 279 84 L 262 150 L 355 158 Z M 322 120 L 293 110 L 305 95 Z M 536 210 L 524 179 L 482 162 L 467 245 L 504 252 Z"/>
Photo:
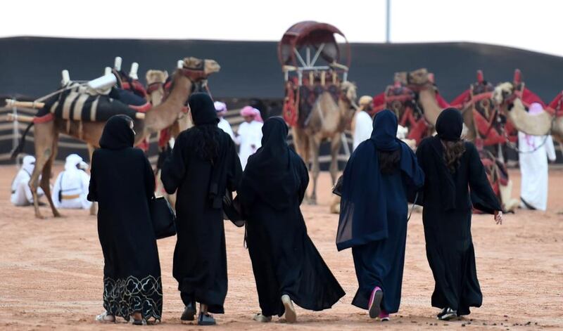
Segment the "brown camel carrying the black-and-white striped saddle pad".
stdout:
<path fill-rule="evenodd" d="M 137 131 L 135 144 L 142 141 L 148 134 L 158 132 L 174 123 L 179 112 L 182 112 L 187 98 L 197 88 L 196 86 L 205 84 L 207 77 L 219 70 L 220 65 L 215 60 L 184 58 L 184 67 L 176 70 L 172 78 L 174 88 L 165 102 L 146 112 L 144 119 L 134 119 L 135 131 Z M 97 148 L 105 122 L 82 122 L 53 118 L 48 122 L 37 121 L 34 125 L 36 162 L 29 185 L 33 193 L 35 216 L 39 219 L 44 218 L 39 212 L 39 200 L 37 198 L 37 187 L 40 186 L 49 201 L 53 216 L 60 217 L 61 214 L 53 206 L 49 186 L 51 167 L 57 153 L 58 135 L 67 134 Z M 22 141 L 25 141 L 25 136 L 23 136 Z M 39 175 L 42 175 L 41 183 L 39 183 Z"/>

